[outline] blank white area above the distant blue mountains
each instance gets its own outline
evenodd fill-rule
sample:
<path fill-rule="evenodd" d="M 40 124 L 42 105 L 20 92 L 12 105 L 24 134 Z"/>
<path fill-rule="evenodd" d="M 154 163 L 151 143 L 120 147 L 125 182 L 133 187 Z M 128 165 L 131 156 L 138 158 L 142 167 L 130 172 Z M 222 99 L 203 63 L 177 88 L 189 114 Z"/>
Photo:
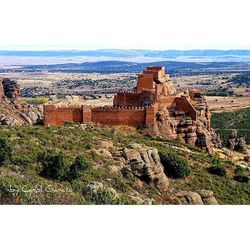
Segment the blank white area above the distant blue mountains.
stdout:
<path fill-rule="evenodd" d="M 4 0 L 0 48 L 250 48 L 248 0 Z"/>

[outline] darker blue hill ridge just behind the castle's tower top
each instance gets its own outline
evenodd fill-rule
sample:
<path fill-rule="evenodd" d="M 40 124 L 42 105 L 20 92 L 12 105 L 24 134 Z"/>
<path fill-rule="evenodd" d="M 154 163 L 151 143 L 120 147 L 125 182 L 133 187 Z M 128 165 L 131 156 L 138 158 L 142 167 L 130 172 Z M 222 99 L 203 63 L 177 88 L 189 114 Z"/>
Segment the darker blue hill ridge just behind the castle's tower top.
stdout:
<path fill-rule="evenodd" d="M 100 61 L 83 63 L 47 64 L 47 65 L 25 65 L 17 68 L 3 68 L 0 73 L 5 72 L 65 72 L 65 73 L 138 73 L 147 66 L 165 66 L 167 71 L 173 75 L 193 75 L 222 72 L 250 71 L 250 63 L 245 62 L 178 62 L 158 61 L 147 63 L 136 63 L 126 61 Z"/>

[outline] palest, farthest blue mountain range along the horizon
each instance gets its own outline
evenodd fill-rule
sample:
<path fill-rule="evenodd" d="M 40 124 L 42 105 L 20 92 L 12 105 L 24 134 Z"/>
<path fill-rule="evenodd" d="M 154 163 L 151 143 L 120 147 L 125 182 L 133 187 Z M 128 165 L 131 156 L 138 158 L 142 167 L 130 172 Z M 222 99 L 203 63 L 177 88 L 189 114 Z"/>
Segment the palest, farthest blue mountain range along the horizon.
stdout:
<path fill-rule="evenodd" d="M 13 59 L 13 57 L 15 58 Z M 3 60 L 7 62 L 6 65 L 11 65 L 11 60 L 13 60 L 13 64 L 16 63 L 16 65 L 25 65 L 26 62 L 35 65 L 104 60 L 130 62 L 154 62 L 166 60 L 183 62 L 250 62 L 250 50 L 0 50 L 0 61 Z M 3 63 L 0 65 L 3 65 Z"/>

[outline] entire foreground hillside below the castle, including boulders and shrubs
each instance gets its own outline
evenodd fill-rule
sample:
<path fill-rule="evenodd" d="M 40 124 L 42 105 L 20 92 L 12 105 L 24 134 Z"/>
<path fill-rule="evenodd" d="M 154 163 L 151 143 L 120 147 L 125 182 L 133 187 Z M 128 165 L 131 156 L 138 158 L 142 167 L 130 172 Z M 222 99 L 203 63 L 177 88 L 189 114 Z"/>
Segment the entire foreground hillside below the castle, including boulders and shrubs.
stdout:
<path fill-rule="evenodd" d="M 0 138 L 2 204 L 250 204 L 230 161 L 131 129 L 2 126 Z"/>

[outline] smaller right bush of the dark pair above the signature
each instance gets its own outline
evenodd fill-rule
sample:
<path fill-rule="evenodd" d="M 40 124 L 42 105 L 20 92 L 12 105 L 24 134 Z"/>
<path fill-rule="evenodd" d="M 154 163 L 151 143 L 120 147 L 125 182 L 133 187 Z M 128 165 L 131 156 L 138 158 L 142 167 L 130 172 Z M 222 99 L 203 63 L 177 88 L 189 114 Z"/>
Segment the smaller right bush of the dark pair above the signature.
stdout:
<path fill-rule="evenodd" d="M 78 178 L 81 175 L 81 172 L 90 168 L 90 163 L 81 155 L 78 155 L 75 158 L 75 161 L 71 164 L 69 173 L 68 173 L 68 180 L 73 180 Z"/>

